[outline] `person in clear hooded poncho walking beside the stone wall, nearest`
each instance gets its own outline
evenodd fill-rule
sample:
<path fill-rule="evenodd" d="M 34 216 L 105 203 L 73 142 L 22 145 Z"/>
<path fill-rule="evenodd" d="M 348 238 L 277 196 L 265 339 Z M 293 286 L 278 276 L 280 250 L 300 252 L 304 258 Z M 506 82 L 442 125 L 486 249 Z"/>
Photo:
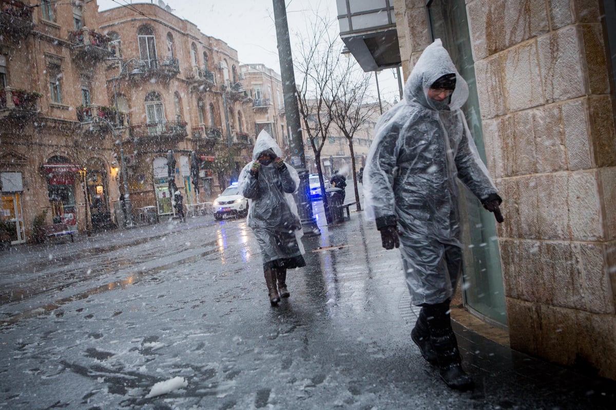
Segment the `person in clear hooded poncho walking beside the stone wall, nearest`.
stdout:
<path fill-rule="evenodd" d="M 457 179 L 503 221 L 460 110 L 466 98 L 468 85 L 437 39 L 419 57 L 403 100 L 379 119 L 363 170 L 368 216 L 383 247 L 400 248 L 411 303 L 421 306 L 411 339 L 445 383 L 461 390 L 473 384 L 449 315 L 462 272 Z"/>

